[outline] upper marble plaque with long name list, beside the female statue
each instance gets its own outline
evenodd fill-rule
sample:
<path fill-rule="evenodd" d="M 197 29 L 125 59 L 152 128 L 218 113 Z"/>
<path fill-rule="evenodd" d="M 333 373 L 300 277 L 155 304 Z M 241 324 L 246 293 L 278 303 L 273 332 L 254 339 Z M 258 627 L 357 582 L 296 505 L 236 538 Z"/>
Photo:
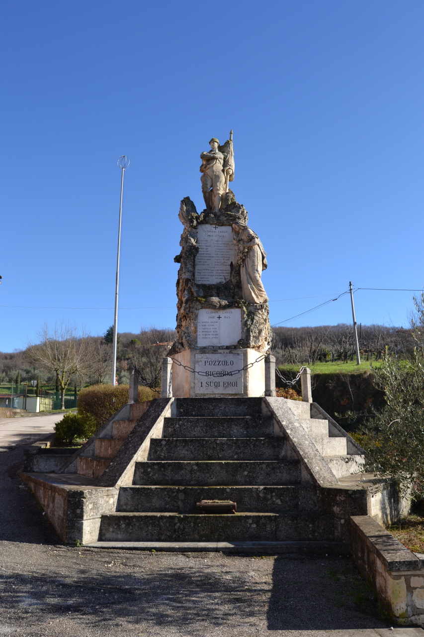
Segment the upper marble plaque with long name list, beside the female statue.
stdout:
<path fill-rule="evenodd" d="M 199 252 L 195 259 L 195 282 L 213 285 L 230 278 L 230 264 L 236 264 L 230 225 L 202 224 L 197 229 Z"/>

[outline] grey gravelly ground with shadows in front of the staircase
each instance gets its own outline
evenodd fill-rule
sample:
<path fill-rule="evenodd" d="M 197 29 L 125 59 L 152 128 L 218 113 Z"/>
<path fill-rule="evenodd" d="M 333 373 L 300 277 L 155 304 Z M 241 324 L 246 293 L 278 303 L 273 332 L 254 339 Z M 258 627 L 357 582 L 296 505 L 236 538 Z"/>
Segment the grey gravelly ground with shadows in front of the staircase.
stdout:
<path fill-rule="evenodd" d="M 64 547 L 16 475 L 22 457 L 22 445 L 0 452 L 0 635 L 335 637 L 390 626 L 346 557 Z"/>

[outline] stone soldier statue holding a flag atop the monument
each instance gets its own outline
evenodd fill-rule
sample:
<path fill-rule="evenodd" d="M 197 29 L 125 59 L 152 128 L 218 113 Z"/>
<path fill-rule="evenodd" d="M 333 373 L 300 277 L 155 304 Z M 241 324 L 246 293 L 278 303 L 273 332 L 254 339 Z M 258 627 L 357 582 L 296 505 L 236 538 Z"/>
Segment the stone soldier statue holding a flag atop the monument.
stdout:
<path fill-rule="evenodd" d="M 228 190 L 228 182 L 234 180 L 232 131 L 230 139 L 223 146 L 220 146 L 216 137 L 209 144 L 211 150 L 201 154 L 202 193 L 206 208 L 216 213 L 220 211 L 221 199 Z"/>

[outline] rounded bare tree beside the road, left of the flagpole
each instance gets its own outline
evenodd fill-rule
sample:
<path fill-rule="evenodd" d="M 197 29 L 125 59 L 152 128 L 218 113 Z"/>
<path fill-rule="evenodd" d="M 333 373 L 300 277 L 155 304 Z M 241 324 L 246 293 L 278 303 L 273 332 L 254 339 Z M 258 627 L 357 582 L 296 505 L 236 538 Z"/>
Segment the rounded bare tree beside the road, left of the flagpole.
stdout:
<path fill-rule="evenodd" d="M 65 408 L 65 391 L 73 374 L 85 375 L 90 359 L 87 334 L 69 323 L 55 324 L 52 330 L 44 324 L 37 333 L 38 343 L 29 343 L 28 357 L 41 367 L 54 371 L 60 388 L 60 406 Z"/>

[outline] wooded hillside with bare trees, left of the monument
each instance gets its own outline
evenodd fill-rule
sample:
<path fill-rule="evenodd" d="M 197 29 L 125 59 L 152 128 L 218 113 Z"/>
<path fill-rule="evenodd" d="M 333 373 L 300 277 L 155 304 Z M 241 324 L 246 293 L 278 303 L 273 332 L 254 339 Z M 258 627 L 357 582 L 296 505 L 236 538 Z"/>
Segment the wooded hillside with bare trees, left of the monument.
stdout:
<path fill-rule="evenodd" d="M 0 385 L 3 392 L 17 392 L 31 381 L 62 394 L 74 388 L 111 382 L 113 327 L 102 336 L 91 336 L 70 324 L 42 326 L 34 343 L 15 352 L 0 352 Z M 175 333 L 157 327 L 142 328 L 139 333 L 118 334 L 117 376 L 119 383 L 129 382 L 129 371 L 136 367 L 141 384 L 158 387 L 160 364 Z M 34 392 L 36 389 L 34 389 Z M 38 393 L 37 393 L 38 395 Z"/>

